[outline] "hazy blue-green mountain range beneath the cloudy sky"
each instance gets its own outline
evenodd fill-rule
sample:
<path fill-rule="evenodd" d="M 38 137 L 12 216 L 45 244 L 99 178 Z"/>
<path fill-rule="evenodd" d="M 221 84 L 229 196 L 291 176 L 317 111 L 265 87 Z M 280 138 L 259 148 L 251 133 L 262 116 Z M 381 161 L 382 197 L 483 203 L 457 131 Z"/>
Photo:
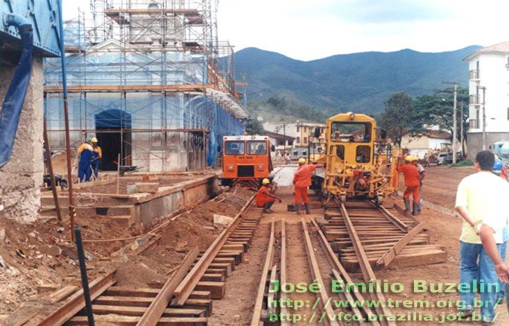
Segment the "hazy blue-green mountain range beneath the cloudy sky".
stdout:
<path fill-rule="evenodd" d="M 411 49 L 363 52 L 312 61 L 246 48 L 235 53 L 236 80 L 247 82 L 248 103 L 277 96 L 326 113 L 354 110 L 377 114 L 395 92 L 432 94 L 450 86 L 443 81 L 467 87 L 468 62 L 463 58 L 480 47 L 440 53 Z"/>

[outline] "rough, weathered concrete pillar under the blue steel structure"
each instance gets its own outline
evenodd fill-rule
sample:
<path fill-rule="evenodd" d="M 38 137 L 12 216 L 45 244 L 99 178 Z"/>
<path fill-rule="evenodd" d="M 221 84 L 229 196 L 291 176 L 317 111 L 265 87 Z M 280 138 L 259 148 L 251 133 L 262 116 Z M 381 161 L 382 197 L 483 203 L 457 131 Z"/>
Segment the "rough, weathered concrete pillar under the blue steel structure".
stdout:
<path fill-rule="evenodd" d="M 2 67 L 0 99 L 5 98 L 16 67 Z M 32 75 L 26 92 L 10 161 L 0 171 L 0 187 L 7 218 L 29 223 L 39 216 L 42 162 L 42 121 L 44 101 L 42 60 L 33 59 Z"/>

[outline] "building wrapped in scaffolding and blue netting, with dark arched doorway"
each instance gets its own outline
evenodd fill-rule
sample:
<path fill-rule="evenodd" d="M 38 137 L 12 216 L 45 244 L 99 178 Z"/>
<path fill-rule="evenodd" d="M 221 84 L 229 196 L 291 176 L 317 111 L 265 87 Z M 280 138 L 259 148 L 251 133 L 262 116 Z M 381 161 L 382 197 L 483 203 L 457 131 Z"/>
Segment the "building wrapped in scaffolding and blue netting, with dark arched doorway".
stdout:
<path fill-rule="evenodd" d="M 218 42 L 217 0 L 91 0 L 65 27 L 69 132 L 95 136 L 101 169 L 215 166 L 223 135 L 248 118 L 233 49 Z M 88 17 L 87 17 L 88 18 Z M 60 59 L 44 62 L 49 142 L 65 147 Z"/>

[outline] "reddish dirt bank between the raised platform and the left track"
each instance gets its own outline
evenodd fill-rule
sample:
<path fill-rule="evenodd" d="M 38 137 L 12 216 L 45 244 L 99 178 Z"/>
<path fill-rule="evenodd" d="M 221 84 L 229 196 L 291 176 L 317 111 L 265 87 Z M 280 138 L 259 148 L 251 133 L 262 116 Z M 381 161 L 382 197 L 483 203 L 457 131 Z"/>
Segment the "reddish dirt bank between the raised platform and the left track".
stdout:
<path fill-rule="evenodd" d="M 86 261 L 89 280 L 116 268 L 119 286 L 146 288 L 154 282 L 164 284 L 166 272 L 177 266 L 189 250 L 194 246 L 206 250 L 223 230 L 221 225 L 214 225 L 214 214 L 233 217 L 250 196 L 252 192 L 245 189 L 223 193 L 160 228 L 157 234 L 161 239 L 143 255 L 121 255 L 114 259 L 110 257 L 112 252 L 134 244 L 135 240 L 130 238 L 139 235 L 139 230 L 117 225 L 105 216 L 78 214 L 76 224 L 81 227 L 83 240 L 126 239 L 84 243 L 92 258 Z M 161 223 L 164 222 L 163 219 Z M 0 266 L 0 315 L 19 309 L 23 302 L 37 295 L 37 288 L 43 284 L 80 284 L 78 259 L 73 255 L 70 239 L 69 221 L 44 218 L 20 225 L 0 215 L 0 256 L 6 266 Z M 64 251 L 60 253 L 58 248 Z"/>

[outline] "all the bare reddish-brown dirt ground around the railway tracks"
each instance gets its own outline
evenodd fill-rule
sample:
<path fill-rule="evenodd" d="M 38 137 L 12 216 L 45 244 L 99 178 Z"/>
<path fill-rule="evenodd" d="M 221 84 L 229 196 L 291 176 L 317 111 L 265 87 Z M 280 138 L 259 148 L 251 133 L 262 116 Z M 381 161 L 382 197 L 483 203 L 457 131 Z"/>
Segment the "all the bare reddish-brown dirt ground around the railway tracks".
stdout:
<path fill-rule="evenodd" d="M 431 234 L 430 243 L 443 246 L 447 250 L 447 261 L 442 264 L 418 266 L 413 268 L 392 269 L 377 271 L 375 274 L 379 280 L 394 284 L 400 282 L 404 285 L 401 293 L 386 293 L 386 298 L 391 300 L 428 300 L 429 304 L 444 304 L 446 307 L 405 308 L 401 305 L 392 308 L 392 313 L 408 314 L 409 312 L 430 313 L 440 317 L 448 314 L 449 318 L 456 314 L 456 302 L 458 293 L 431 293 L 425 291 L 417 293 L 413 291 L 413 282 L 421 281 L 426 284 L 431 282 L 457 283 L 459 277 L 459 241 L 461 220 L 451 214 L 454 208 L 456 187 L 460 180 L 474 173 L 474 168 L 448 168 L 431 166 L 426 169 L 426 179 L 422 197 L 425 200 L 420 219 L 429 221 L 428 229 Z M 286 173 L 291 175 L 293 173 Z M 282 182 L 283 183 L 283 182 Z M 401 190 L 401 189 L 400 189 Z M 287 223 L 288 245 L 288 282 L 311 282 L 309 266 L 305 256 L 300 221 L 302 216 L 286 211 L 286 204 L 293 201 L 293 189 L 282 187 L 277 194 L 283 197 L 283 203 L 273 206 L 275 214 L 266 215 L 261 219 L 259 228 L 246 257 L 249 263 L 236 266 L 235 271 L 227 279 L 226 295 L 223 300 L 214 302 L 213 316 L 210 325 L 249 325 L 252 316 L 252 307 L 255 293 L 259 282 L 259 273 L 264 264 L 264 253 L 268 243 L 270 221 L 280 221 L 282 218 Z M 237 190 L 234 194 L 224 194 L 203 205 L 199 205 L 191 212 L 182 214 L 175 221 L 166 225 L 157 234 L 162 236 L 158 245 L 147 250 L 144 255 L 136 257 L 123 257 L 122 260 L 110 260 L 110 254 L 122 246 L 129 245 L 132 241 L 114 241 L 107 243 L 87 243 L 85 249 L 94 255 L 92 261 L 87 261 L 87 266 L 92 267 L 90 279 L 94 278 L 94 270 L 104 266 L 117 267 L 119 286 L 130 284 L 135 287 L 146 287 L 152 282 L 165 282 L 166 271 L 176 266 L 186 253 L 198 246 L 205 250 L 216 235 L 221 232 L 213 223 L 214 214 L 233 216 L 245 200 L 252 195 L 249 191 Z M 397 203 L 402 204 L 400 197 L 395 198 Z M 426 203 L 430 203 L 426 205 Z M 435 209 L 433 207 L 442 207 Z M 322 216 L 322 209 L 313 209 L 311 216 Z M 309 215 L 304 215 L 308 220 Z M 137 235 L 135 229 L 128 230 L 112 224 L 104 216 L 80 216 L 84 239 L 117 239 Z M 63 230 L 59 229 L 63 228 Z M 5 236 L 3 236 L 5 232 Z M 51 238 L 51 239 L 50 239 Z M 0 256 L 8 265 L 0 267 L 0 315 L 10 314 L 17 309 L 21 302 L 31 298 L 37 293 L 37 286 L 41 284 L 67 284 L 78 280 L 78 266 L 76 259 L 65 255 L 48 255 L 42 248 L 51 246 L 52 241 L 64 243 L 69 241 L 69 223 L 58 223 L 54 219 L 44 219 L 33 225 L 19 225 L 7 221 L 0 216 Z M 313 239 L 318 263 L 325 266 L 321 248 L 316 239 Z M 19 252 L 17 253 L 17 250 Z M 105 261 L 107 260 L 107 261 Z M 102 266 L 99 268 L 98 266 Z M 94 268 L 95 267 L 95 268 Z M 355 277 L 356 275 L 354 275 Z M 326 284 L 330 282 L 327 273 L 322 273 Z M 313 293 L 291 295 L 293 299 L 313 300 Z M 302 314 L 310 314 L 313 309 L 304 307 Z M 294 311 L 295 312 L 295 311 Z M 509 325 L 509 316 L 505 304 L 497 307 L 497 323 L 495 325 Z M 445 316 L 445 315 L 443 315 Z M 399 322 L 401 325 L 438 325 L 438 322 L 426 323 L 417 321 Z M 301 323 L 301 325 L 310 325 Z M 340 325 L 349 325 L 340 323 Z M 445 321 L 443 325 L 479 325 L 474 322 Z"/>

